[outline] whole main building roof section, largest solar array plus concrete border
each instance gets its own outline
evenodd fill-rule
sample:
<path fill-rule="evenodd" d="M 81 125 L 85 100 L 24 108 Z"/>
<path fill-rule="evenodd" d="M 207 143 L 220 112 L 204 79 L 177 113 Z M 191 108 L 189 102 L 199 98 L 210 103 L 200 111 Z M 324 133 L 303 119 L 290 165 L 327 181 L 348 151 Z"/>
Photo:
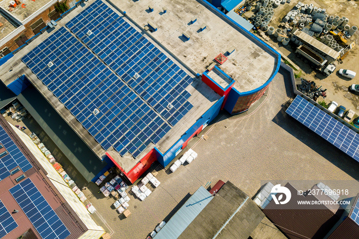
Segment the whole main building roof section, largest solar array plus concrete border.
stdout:
<path fill-rule="evenodd" d="M 97 17 L 94 24 L 87 17 L 89 13 L 103 18 Z M 86 31 L 74 27 L 80 17 L 82 23 L 76 26 Z M 16 62 L 16 66 L 11 72 L 4 69 L 2 79 L 10 83 L 15 75 L 25 74 L 99 158 L 107 152 L 129 171 L 154 147 L 165 153 L 220 99 L 102 1 L 87 5 L 73 21 L 68 27 L 76 35 L 61 28 L 41 44 L 35 39 L 37 47 L 29 46 L 8 61 L 9 65 Z M 97 25 L 101 27 L 93 28 Z M 93 34 L 86 37 L 89 30 Z M 106 39 L 99 45 L 106 46 L 108 41 L 113 41 L 110 46 L 118 44 L 117 51 L 93 45 L 88 41 L 93 36 L 96 41 Z M 22 52 L 29 54 L 23 57 Z M 17 57 L 23 57 L 31 71 Z M 52 68 L 47 66 L 50 61 L 54 63 Z M 118 68 L 119 62 L 125 63 Z M 98 115 L 94 115 L 95 109 Z"/>

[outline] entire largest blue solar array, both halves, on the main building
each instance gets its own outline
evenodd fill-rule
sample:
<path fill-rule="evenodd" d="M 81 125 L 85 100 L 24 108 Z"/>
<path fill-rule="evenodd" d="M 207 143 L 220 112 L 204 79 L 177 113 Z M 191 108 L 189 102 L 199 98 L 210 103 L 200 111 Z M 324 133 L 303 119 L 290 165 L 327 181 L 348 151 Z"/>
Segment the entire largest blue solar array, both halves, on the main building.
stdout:
<path fill-rule="evenodd" d="M 63 27 L 22 60 L 105 150 L 137 157 L 193 107 L 192 78 L 103 2 L 67 27 L 96 55 Z"/>

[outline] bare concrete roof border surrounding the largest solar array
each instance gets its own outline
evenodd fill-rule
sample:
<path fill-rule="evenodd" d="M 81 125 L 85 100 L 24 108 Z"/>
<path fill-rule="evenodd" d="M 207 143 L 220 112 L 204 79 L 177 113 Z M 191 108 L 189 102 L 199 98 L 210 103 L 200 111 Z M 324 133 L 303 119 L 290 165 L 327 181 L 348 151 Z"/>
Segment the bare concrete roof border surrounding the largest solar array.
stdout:
<path fill-rule="evenodd" d="M 85 9 L 91 5 L 86 5 Z M 67 18 L 65 18 L 67 19 Z M 64 19 L 64 20 L 65 20 Z M 71 17 L 69 16 L 69 19 Z M 66 24 L 66 21 L 59 22 L 59 27 Z M 130 23 L 132 27 L 133 24 Z M 136 27 L 135 27 L 136 29 Z M 138 32 L 141 30 L 136 29 Z M 54 31 L 56 32 L 56 31 Z M 51 34 L 52 35 L 52 34 Z M 71 114 L 71 112 L 65 107 L 63 103 L 59 101 L 59 99 L 53 94 L 52 91 L 48 89 L 46 85 L 44 85 L 37 76 L 28 68 L 26 65 L 19 61 L 25 54 L 31 51 L 34 47 L 38 46 L 41 42 L 44 41 L 49 35 L 43 34 L 40 37 L 34 40 L 34 43 L 31 43 L 28 47 L 24 48 L 22 51 L 17 53 L 13 58 L 9 59 L 7 65 L 3 69 L 2 80 L 5 84 L 9 84 L 14 79 L 17 78 L 17 75 L 25 74 L 29 81 L 41 92 L 46 100 L 54 107 L 54 109 L 64 118 L 64 120 L 70 125 L 70 127 L 82 138 L 82 140 L 93 150 L 93 152 L 99 157 L 103 158 L 105 153 L 107 152 L 125 171 L 129 171 L 132 169 L 136 163 L 143 156 L 145 156 L 150 150 L 156 147 L 162 153 L 165 153 L 175 142 L 179 140 L 179 138 L 196 122 L 198 118 L 200 118 L 218 99 L 220 99 L 220 95 L 216 94 L 213 90 L 210 89 L 201 79 L 195 78 L 195 75 L 191 74 L 189 70 L 187 70 L 183 65 L 179 64 L 175 58 L 173 58 L 168 52 L 165 50 L 161 50 L 167 57 L 169 57 L 176 65 L 181 67 L 188 75 L 194 78 L 194 81 L 188 85 L 185 90 L 188 91 L 191 95 L 188 98 L 188 102 L 193 105 L 193 107 L 188 111 L 187 114 L 182 117 L 182 119 L 177 122 L 171 129 L 157 142 L 157 144 L 150 143 L 148 147 L 142 151 L 136 158 L 134 158 L 131 154 L 126 153 L 121 156 L 118 151 L 116 151 L 112 146 L 105 150 L 96 140 L 95 138 L 86 130 L 83 125 L 76 120 L 76 118 Z M 157 48 L 161 49 L 152 39 L 146 34 L 144 37 L 148 39 L 152 44 L 154 44 Z M 99 58 L 98 55 L 95 55 Z M 7 66 L 15 65 L 12 67 L 12 71 L 9 71 L 10 68 L 6 68 Z M 107 66 L 108 67 L 108 66 Z M 156 115 L 159 115 L 156 112 Z"/>

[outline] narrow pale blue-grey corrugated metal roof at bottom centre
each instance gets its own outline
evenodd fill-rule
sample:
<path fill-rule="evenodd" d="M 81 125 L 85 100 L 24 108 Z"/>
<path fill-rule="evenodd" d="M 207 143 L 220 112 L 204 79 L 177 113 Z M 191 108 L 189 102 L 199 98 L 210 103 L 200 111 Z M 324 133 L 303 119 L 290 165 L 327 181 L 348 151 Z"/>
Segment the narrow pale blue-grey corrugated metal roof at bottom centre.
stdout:
<path fill-rule="evenodd" d="M 154 238 L 177 238 L 212 199 L 213 196 L 204 187 L 198 188 Z"/>

